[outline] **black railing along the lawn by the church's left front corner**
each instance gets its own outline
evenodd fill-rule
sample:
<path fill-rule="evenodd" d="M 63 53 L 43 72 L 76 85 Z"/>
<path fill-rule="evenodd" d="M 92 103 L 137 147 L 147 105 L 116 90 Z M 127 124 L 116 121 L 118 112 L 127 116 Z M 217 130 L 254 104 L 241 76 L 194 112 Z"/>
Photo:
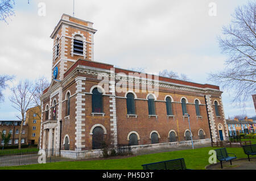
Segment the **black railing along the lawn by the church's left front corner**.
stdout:
<path fill-rule="evenodd" d="M 0 166 L 30 165 L 36 163 L 63 162 L 88 158 L 111 157 L 114 155 L 130 155 L 129 145 L 116 147 L 105 146 L 101 149 L 69 148 L 69 149 L 23 149 L 0 150 Z"/>

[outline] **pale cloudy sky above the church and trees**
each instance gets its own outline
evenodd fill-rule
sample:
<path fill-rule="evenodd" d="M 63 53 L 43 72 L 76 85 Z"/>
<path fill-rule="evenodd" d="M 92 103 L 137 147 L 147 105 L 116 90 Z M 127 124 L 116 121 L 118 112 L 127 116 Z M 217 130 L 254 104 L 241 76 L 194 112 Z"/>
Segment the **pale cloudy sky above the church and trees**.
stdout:
<path fill-rule="evenodd" d="M 217 36 L 231 20 L 236 7 L 247 1 L 226 0 L 75 0 L 75 17 L 93 22 L 94 60 L 147 73 L 164 69 L 186 74 L 192 82 L 209 83 L 210 72 L 224 69 L 226 55 Z M 213 4 L 212 4 L 213 3 Z M 213 6 L 216 5 L 216 6 Z M 216 7 L 216 9 L 214 9 Z M 216 10 L 216 11 L 214 11 Z M 51 80 L 53 41 L 49 37 L 62 14 L 73 15 L 72 0 L 16 1 L 15 16 L 0 22 L 0 74 L 20 80 L 39 77 Z M 0 120 L 17 120 L 19 111 L 3 91 Z M 232 104 L 232 92 L 222 93 L 225 117 L 255 116 L 253 99 L 246 107 Z"/>

